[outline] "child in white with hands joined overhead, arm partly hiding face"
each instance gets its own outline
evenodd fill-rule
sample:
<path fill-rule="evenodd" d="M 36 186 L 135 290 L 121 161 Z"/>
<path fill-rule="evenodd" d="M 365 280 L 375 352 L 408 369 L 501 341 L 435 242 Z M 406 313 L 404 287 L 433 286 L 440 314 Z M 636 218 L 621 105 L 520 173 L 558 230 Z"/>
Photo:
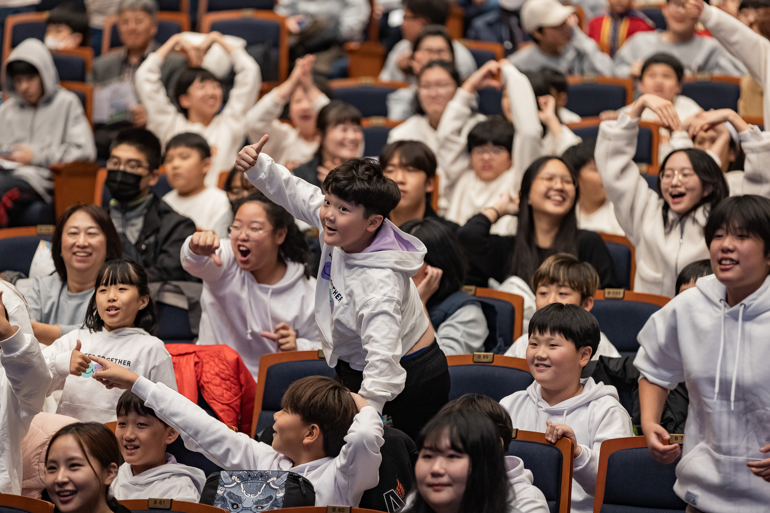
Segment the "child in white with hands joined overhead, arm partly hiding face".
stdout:
<path fill-rule="evenodd" d="M 259 98 L 246 112 L 249 141 L 258 142 L 263 135 L 269 135 L 265 153 L 290 170 L 313 160 L 321 142 L 316 122 L 318 112 L 329 104 L 331 89 L 321 82 L 323 78 L 313 75 L 314 61 L 314 55 L 298 58 L 286 82 Z M 287 103 L 291 124 L 280 120 Z"/>

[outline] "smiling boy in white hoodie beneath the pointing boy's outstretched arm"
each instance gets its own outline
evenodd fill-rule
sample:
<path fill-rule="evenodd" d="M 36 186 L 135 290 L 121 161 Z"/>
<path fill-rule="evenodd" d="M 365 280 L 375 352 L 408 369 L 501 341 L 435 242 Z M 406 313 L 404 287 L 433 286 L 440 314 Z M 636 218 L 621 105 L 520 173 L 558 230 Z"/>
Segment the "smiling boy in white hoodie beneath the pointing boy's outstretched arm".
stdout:
<path fill-rule="evenodd" d="M 115 413 L 118 416 L 115 438 L 125 461 L 112 481 L 115 498 L 119 501 L 150 497 L 199 501 L 206 475 L 199 468 L 177 463 L 176 458 L 166 452 L 166 447 L 179 433 L 130 390 L 120 396 Z"/>

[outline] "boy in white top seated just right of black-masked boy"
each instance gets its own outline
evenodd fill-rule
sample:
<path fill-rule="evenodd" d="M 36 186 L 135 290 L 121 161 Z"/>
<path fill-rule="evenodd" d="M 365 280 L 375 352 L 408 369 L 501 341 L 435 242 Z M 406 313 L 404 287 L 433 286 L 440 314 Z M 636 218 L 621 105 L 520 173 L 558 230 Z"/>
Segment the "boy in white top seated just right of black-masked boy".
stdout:
<path fill-rule="evenodd" d="M 192 219 L 197 228 L 213 230 L 219 218 L 230 212 L 227 193 L 206 185 L 211 168 L 211 148 L 201 135 L 184 132 L 166 144 L 166 177 L 173 190 L 163 196 L 171 208 Z"/>

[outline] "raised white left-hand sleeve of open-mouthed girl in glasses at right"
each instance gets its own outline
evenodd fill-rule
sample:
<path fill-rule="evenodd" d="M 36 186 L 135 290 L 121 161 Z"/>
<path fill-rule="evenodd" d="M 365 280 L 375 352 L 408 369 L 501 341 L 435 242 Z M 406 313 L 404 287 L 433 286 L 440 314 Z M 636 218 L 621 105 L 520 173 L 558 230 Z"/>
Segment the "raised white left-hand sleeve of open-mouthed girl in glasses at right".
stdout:
<path fill-rule="evenodd" d="M 639 120 L 621 113 L 618 121 L 599 125 L 596 167 L 607 197 L 614 204 L 615 217 L 632 244 L 641 241 L 644 220 L 658 215 L 658 192 L 653 191 L 633 162 Z"/>

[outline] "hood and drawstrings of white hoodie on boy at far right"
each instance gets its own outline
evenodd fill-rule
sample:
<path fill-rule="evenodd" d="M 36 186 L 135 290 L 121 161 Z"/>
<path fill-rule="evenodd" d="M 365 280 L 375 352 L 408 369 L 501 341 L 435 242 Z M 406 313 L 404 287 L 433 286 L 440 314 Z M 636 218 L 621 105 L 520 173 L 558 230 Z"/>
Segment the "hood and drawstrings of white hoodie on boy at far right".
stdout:
<path fill-rule="evenodd" d="M 719 377 L 721 376 L 721 364 L 725 354 L 725 318 L 729 317 L 738 322 L 738 335 L 735 341 L 735 365 L 733 365 L 733 368 L 728 369 L 728 373 L 732 377 L 730 387 L 730 409 L 732 410 L 735 409 L 735 384 L 738 381 L 738 361 L 741 361 L 739 356 L 742 338 L 745 336 L 745 322 L 752 321 L 758 315 L 770 310 L 770 278 L 765 278 L 762 286 L 735 306 L 728 306 L 725 300 L 727 298 L 727 288 L 718 281 L 715 275 L 698 278 L 695 286 L 708 299 L 713 313 L 721 317 L 717 371 L 714 382 L 715 401 L 719 395 Z M 731 345 L 731 347 L 733 346 Z"/>

